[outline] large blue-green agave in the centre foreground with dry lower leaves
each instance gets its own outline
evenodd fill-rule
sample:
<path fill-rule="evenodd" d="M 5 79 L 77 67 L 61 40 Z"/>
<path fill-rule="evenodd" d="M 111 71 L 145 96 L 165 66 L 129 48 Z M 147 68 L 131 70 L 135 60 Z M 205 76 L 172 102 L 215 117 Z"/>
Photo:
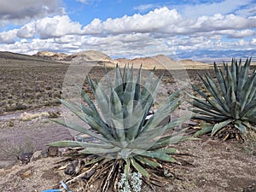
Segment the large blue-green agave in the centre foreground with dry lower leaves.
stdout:
<path fill-rule="evenodd" d="M 165 171 L 171 172 L 169 164 L 177 160 L 173 157 L 177 150 L 170 148 L 170 145 L 189 139 L 170 133 L 183 119 L 173 120 L 166 125 L 160 124 L 179 106 L 179 90 L 169 96 L 147 119 L 161 78 L 154 79 L 153 71 L 145 84 L 141 84 L 142 67 L 138 70 L 136 78 L 132 67 L 124 67 L 122 73 L 117 66 L 112 82 L 107 69 L 105 70 L 107 87 L 100 81 L 87 78 L 95 102 L 79 87 L 87 105 L 61 100 L 79 119 L 90 125 L 90 129 L 65 120 L 54 120 L 58 124 L 93 137 L 94 142 L 60 141 L 49 145 L 81 147 L 79 154 L 86 156 L 84 165 L 101 170 L 95 172 L 90 181 L 104 176 L 101 191 L 106 191 L 110 186 L 116 191 L 119 178 L 125 176 L 126 181 L 131 181 L 132 172 L 141 174 L 143 181 L 148 184 L 162 186 L 160 176 L 163 176 Z"/>

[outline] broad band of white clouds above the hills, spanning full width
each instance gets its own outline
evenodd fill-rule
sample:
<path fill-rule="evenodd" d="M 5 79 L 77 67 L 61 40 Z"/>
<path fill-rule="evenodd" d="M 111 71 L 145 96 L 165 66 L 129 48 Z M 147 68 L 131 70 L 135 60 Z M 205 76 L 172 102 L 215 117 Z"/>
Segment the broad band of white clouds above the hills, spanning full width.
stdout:
<path fill-rule="evenodd" d="M 0 44 L 1 49 L 20 53 L 96 49 L 111 56 L 168 55 L 178 50 L 255 49 L 255 28 L 256 16 L 252 15 L 214 14 L 188 19 L 177 9 L 163 7 L 147 14 L 95 18 L 86 26 L 68 15 L 48 16 L 0 32 Z"/>

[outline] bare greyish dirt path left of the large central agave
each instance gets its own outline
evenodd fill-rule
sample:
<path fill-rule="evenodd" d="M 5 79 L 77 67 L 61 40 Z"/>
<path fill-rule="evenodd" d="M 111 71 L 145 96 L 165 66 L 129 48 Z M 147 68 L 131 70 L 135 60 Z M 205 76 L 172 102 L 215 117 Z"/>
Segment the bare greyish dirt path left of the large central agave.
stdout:
<path fill-rule="evenodd" d="M 46 150 L 47 143 L 71 139 L 72 136 L 65 127 L 55 124 L 48 117 L 39 116 L 28 121 L 20 119 L 20 115 L 24 113 L 59 111 L 60 107 L 40 108 L 0 116 L 0 168 L 15 164 L 19 154 Z"/>

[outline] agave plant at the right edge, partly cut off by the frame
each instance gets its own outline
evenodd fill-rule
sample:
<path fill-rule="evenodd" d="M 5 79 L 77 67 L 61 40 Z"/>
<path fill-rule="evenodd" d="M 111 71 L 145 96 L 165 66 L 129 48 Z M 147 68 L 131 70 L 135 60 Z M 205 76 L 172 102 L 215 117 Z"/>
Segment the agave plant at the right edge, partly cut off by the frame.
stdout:
<path fill-rule="evenodd" d="M 247 128 L 253 128 L 251 125 L 256 123 L 256 73 L 255 70 L 249 73 L 250 63 L 251 59 L 244 65 L 241 60 L 232 59 L 231 67 L 224 63 L 224 70 L 214 63 L 216 81 L 209 73 L 205 77 L 199 74 L 207 93 L 192 85 L 202 97 L 191 96 L 196 113 L 194 119 L 207 121 L 207 124 L 202 124 L 195 136 L 211 132 L 212 136 L 218 133 L 224 140 L 228 137 L 241 140 Z"/>

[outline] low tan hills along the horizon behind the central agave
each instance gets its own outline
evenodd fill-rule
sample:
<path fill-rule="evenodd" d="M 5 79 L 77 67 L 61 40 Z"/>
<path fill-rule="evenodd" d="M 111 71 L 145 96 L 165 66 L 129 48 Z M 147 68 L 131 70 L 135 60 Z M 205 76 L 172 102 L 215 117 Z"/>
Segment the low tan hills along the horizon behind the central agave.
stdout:
<path fill-rule="evenodd" d="M 23 61 L 56 61 L 56 62 L 66 62 L 66 63 L 83 63 L 88 62 L 90 65 L 106 65 L 107 67 L 114 67 L 116 64 L 119 66 L 125 66 L 132 64 L 134 67 L 151 68 L 195 68 L 195 67 L 207 67 L 205 63 L 200 61 L 193 61 L 190 59 L 184 59 L 179 61 L 174 61 L 171 57 L 166 55 L 155 55 L 150 57 L 141 57 L 135 59 L 125 59 L 119 58 L 113 60 L 108 55 L 95 51 L 87 50 L 84 52 L 76 53 L 73 55 L 67 55 L 64 53 L 55 53 L 49 51 L 40 51 L 36 55 L 22 55 L 11 52 L 1 52 L 0 59 L 12 59 L 12 60 L 23 60 Z"/>

